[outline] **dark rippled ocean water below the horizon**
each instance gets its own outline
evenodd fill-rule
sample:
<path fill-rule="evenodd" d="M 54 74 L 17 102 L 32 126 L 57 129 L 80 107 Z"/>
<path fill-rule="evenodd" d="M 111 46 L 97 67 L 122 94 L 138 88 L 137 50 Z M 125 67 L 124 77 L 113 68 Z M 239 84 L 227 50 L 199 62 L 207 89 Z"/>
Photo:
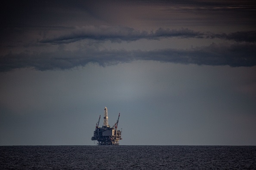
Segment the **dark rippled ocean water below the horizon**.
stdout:
<path fill-rule="evenodd" d="M 0 170 L 256 170 L 256 146 L 0 146 Z"/>

